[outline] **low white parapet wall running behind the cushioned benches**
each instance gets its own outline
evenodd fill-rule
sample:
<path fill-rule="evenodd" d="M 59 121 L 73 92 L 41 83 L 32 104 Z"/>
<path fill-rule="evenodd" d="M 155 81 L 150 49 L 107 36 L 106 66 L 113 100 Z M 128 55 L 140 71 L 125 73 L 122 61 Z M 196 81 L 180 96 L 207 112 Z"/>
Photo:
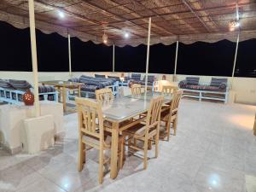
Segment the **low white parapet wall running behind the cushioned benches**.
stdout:
<path fill-rule="evenodd" d="M 79 77 L 82 72 L 73 73 L 73 77 Z M 95 73 L 84 73 L 93 76 Z M 99 72 L 98 74 L 120 76 L 121 73 Z M 130 73 L 128 73 L 130 75 Z M 164 74 L 154 74 L 156 79 L 161 79 Z M 142 74 L 144 76 L 144 73 Z M 185 79 L 192 75 L 177 75 L 177 81 Z M 198 76 L 195 76 L 198 77 Z M 38 73 L 39 81 L 45 80 L 67 80 L 68 73 Z M 142 77 L 143 78 L 143 77 Z M 166 74 L 166 79 L 172 81 L 173 75 Z M 219 77 L 226 78 L 226 77 Z M 0 72 L 0 79 L 26 79 L 32 83 L 32 72 Z M 200 76 L 200 81 L 203 83 L 210 83 L 212 76 Z M 231 78 L 228 78 L 229 82 Z M 256 78 L 234 78 L 233 90 L 236 91 L 235 102 L 247 103 L 256 105 Z"/>

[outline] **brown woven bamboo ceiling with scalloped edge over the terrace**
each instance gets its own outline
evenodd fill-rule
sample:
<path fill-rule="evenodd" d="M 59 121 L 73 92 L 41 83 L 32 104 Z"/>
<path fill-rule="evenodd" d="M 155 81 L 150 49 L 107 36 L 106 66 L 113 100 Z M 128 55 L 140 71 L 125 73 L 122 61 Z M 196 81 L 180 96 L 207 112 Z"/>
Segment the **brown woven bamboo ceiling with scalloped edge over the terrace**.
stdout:
<path fill-rule="evenodd" d="M 102 43 L 104 32 L 109 44 L 145 44 L 148 17 L 152 18 L 151 44 L 185 44 L 236 41 L 238 30 L 230 32 L 230 20 L 239 9 L 241 40 L 256 38 L 255 0 L 35 0 L 36 27 L 67 37 Z M 59 12 L 64 14 L 60 18 Z M 0 20 L 25 28 L 27 0 L 0 0 Z M 124 32 L 130 38 L 124 38 Z"/>

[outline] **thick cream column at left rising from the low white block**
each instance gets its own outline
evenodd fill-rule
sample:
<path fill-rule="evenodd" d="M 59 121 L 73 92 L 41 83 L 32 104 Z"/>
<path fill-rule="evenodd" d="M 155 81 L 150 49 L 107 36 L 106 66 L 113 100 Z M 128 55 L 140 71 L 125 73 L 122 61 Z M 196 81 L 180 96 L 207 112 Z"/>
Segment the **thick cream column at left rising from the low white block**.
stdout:
<path fill-rule="evenodd" d="M 34 80 L 34 96 L 35 96 L 35 116 L 40 116 L 40 105 L 38 96 L 38 56 L 37 56 L 37 41 L 36 41 L 36 28 L 35 28 L 35 10 L 34 0 L 28 1 L 29 7 L 29 25 L 30 25 L 30 40 L 31 40 L 31 52 L 32 52 L 32 69 Z"/>

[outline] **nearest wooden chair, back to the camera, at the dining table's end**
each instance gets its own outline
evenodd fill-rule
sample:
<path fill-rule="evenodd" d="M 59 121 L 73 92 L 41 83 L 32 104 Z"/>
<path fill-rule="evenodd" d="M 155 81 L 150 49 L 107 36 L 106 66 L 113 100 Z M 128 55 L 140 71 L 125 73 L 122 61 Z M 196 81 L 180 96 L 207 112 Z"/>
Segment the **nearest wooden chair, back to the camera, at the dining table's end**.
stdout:
<path fill-rule="evenodd" d="M 90 99 L 75 99 L 79 115 L 79 172 L 85 163 L 86 145 L 99 150 L 99 183 L 103 181 L 104 150 L 111 149 L 111 137 L 104 130 L 102 106 Z M 119 138 L 119 167 L 123 165 L 122 137 Z"/>

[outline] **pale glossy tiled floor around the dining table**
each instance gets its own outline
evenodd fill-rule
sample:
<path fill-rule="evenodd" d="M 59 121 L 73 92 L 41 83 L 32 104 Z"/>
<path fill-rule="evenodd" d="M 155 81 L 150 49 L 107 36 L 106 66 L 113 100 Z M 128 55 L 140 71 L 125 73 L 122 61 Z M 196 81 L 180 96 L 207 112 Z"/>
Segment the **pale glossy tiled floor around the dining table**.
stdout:
<path fill-rule="evenodd" d="M 108 173 L 102 185 L 96 150 L 88 153 L 83 172 L 77 171 L 77 117 L 69 114 L 66 137 L 55 148 L 15 156 L 0 150 L 0 191 L 245 192 L 246 177 L 256 176 L 255 110 L 183 100 L 177 136 L 160 142 L 159 158 L 148 160 L 143 171 L 143 161 L 131 156 L 119 176 L 112 180 Z"/>

